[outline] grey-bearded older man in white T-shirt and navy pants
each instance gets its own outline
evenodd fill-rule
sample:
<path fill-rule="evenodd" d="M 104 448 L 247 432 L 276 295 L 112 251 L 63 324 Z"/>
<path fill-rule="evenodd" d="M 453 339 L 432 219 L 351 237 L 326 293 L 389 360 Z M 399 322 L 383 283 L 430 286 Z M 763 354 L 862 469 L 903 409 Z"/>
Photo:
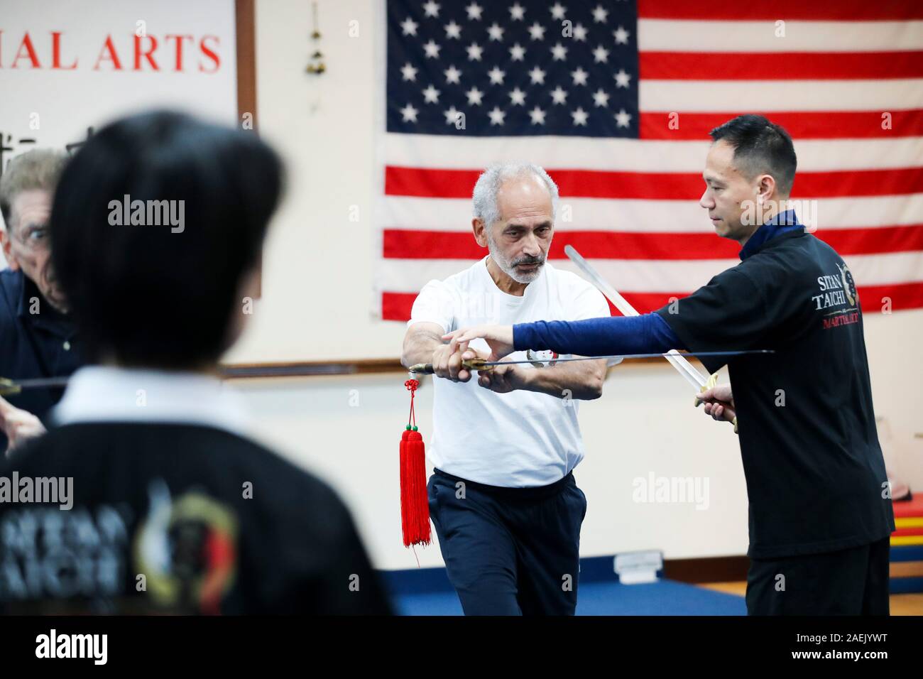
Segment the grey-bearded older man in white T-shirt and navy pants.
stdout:
<path fill-rule="evenodd" d="M 468 615 L 573 614 L 586 498 L 578 400 L 598 398 L 605 359 L 477 373 L 483 341 L 450 353 L 442 336 L 480 323 L 606 316 L 599 291 L 546 259 L 557 186 L 541 167 L 489 167 L 474 187 L 474 238 L 489 254 L 414 302 L 404 365 L 433 363 L 435 470 L 429 508 L 449 579 Z M 511 354 L 509 360 L 527 358 Z M 531 358 L 531 357 L 530 357 Z"/>

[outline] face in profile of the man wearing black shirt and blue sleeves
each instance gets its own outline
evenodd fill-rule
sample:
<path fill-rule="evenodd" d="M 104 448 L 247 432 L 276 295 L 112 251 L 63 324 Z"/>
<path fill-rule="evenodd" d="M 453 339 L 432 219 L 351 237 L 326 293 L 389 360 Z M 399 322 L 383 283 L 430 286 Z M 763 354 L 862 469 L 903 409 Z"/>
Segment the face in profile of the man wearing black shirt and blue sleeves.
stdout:
<path fill-rule="evenodd" d="M 705 159 L 705 192 L 699 204 L 708 210 L 715 233 L 738 242 L 748 238 L 758 224 L 741 224 L 741 215 L 750 204 L 759 200 L 761 176 L 748 180 L 734 164 L 734 147 L 719 139 L 712 144 Z"/>

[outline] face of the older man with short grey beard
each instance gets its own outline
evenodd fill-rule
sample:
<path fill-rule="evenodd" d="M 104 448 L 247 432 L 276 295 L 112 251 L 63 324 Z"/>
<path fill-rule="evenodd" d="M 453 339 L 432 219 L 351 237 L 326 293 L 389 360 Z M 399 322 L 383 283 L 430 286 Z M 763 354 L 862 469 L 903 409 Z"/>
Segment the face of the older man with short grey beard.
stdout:
<path fill-rule="evenodd" d="M 503 273 L 517 283 L 532 283 L 542 273 L 554 236 L 548 188 L 537 176 L 509 179 L 497 192 L 497 207 L 497 223 L 482 226 L 480 233 L 475 225 L 477 242 Z"/>

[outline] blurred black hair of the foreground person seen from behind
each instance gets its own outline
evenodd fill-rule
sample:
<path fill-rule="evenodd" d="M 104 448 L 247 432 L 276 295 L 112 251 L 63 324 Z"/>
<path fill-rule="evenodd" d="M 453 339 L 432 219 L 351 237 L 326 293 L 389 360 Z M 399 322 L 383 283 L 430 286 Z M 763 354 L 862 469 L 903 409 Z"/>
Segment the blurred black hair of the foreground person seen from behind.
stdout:
<path fill-rule="evenodd" d="M 93 135 L 66 165 L 49 224 L 54 272 L 90 360 L 215 362 L 281 192 L 282 163 L 253 132 L 157 111 Z M 126 195 L 184 200 L 182 231 L 111 224 L 110 203 Z"/>

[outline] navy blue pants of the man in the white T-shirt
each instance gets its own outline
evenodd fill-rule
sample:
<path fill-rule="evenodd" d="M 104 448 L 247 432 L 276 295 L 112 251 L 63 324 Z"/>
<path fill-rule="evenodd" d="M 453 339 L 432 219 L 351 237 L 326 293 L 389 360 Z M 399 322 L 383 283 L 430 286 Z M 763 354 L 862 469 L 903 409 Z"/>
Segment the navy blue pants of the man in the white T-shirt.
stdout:
<path fill-rule="evenodd" d="M 574 614 L 586 496 L 573 474 L 549 486 L 499 488 L 436 469 L 428 490 L 465 615 Z"/>

